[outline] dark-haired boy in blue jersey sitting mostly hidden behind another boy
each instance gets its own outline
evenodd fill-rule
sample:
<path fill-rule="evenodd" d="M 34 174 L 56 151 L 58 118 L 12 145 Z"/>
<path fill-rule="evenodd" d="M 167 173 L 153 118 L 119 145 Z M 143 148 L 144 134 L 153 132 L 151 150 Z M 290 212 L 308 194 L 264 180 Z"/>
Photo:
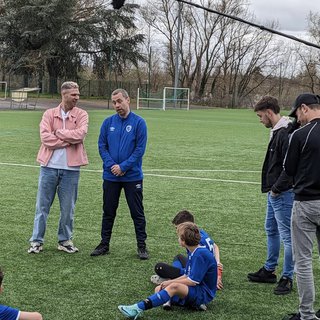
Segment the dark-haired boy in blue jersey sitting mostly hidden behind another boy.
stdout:
<path fill-rule="evenodd" d="M 188 210 L 179 211 L 172 220 L 172 224 L 175 227 L 177 227 L 179 224 L 184 222 L 194 222 L 194 216 Z M 220 262 L 219 247 L 203 229 L 200 229 L 200 235 L 201 235 L 200 245 L 205 246 L 214 255 L 217 261 L 217 264 L 218 264 L 217 289 L 220 290 L 223 288 L 223 283 L 222 283 L 223 265 Z M 172 265 L 169 265 L 164 262 L 157 263 L 154 268 L 156 275 L 151 276 L 151 282 L 153 282 L 154 284 L 160 284 L 165 279 L 174 279 L 174 278 L 180 277 L 185 272 L 186 263 L 187 263 L 187 258 L 181 254 L 177 255 L 174 258 Z M 166 305 L 165 307 L 169 309 L 169 305 Z"/>

